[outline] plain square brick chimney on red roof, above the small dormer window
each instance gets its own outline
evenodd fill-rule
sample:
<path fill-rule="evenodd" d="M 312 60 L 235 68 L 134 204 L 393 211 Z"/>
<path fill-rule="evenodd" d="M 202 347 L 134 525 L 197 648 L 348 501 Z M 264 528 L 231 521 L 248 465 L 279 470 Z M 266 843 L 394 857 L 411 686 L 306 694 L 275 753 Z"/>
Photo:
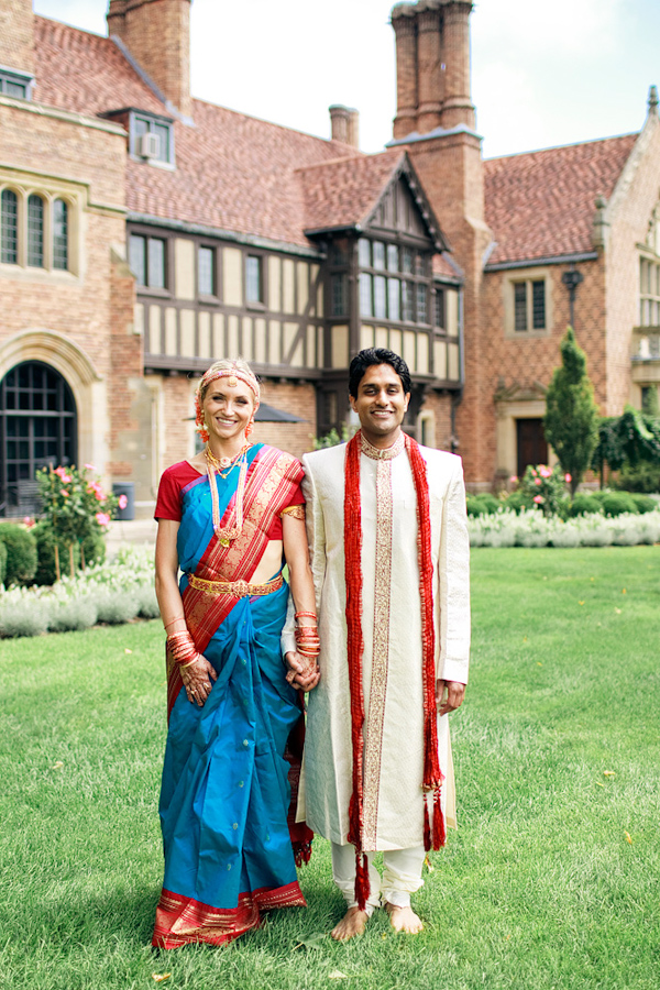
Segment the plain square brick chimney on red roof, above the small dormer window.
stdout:
<path fill-rule="evenodd" d="M 108 34 L 128 48 L 165 100 L 190 117 L 191 0 L 110 0 Z"/>

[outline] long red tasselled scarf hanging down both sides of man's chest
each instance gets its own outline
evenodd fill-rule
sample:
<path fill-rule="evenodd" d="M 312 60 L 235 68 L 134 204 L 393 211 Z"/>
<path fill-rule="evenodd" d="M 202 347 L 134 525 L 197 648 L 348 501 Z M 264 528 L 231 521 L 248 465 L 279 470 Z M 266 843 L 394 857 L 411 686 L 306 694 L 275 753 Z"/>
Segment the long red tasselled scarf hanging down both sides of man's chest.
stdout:
<path fill-rule="evenodd" d="M 436 706 L 436 663 L 433 624 L 433 564 L 431 557 L 431 520 L 427 466 L 419 444 L 406 436 L 406 452 L 410 462 L 417 495 L 417 547 L 419 560 L 419 600 L 421 608 L 422 684 L 424 684 L 424 779 L 425 794 L 433 791 L 433 828 L 428 804 L 424 802 L 424 843 L 429 850 L 439 849 L 446 842 L 444 817 L 440 805 L 442 773 L 438 758 L 438 724 Z M 369 864 L 362 849 L 363 824 L 363 750 L 364 692 L 362 685 L 362 510 L 360 499 L 361 436 L 349 442 L 345 459 L 344 487 L 344 575 L 346 584 L 346 626 L 349 689 L 351 693 L 351 740 L 353 749 L 353 790 L 349 804 L 349 842 L 355 846 L 355 900 L 361 911 L 370 894 Z"/>

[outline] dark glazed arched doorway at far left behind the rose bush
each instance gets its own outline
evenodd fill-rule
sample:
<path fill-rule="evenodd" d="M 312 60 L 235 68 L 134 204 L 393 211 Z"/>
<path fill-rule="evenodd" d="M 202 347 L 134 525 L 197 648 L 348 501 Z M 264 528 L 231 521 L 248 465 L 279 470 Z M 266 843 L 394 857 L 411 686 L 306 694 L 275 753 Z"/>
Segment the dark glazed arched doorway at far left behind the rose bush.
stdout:
<path fill-rule="evenodd" d="M 76 402 L 67 382 L 42 361 L 16 364 L 0 383 L 0 515 L 34 513 L 37 469 L 73 464 L 76 455 Z"/>

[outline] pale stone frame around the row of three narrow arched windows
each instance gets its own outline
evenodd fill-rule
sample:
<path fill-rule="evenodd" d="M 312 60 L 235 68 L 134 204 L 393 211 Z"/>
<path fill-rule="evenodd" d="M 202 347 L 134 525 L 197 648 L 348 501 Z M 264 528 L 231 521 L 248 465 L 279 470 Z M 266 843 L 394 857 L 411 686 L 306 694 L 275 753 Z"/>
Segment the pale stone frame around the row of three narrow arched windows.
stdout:
<path fill-rule="evenodd" d="M 80 228 L 82 204 L 80 195 L 72 189 L 62 188 L 59 185 L 51 185 L 47 182 L 26 183 L 16 182 L 13 177 L 0 175 L 0 197 L 4 191 L 13 193 L 16 197 L 16 261 L 2 262 L 0 272 L 11 275 L 21 273 L 30 277 L 55 276 L 78 277 L 81 267 Z M 29 201 L 31 197 L 37 197 L 43 202 L 43 264 L 29 263 Z M 55 263 L 55 222 L 54 211 L 57 200 L 66 206 L 66 268 Z M 1 222 L 1 219 L 0 219 Z"/>

